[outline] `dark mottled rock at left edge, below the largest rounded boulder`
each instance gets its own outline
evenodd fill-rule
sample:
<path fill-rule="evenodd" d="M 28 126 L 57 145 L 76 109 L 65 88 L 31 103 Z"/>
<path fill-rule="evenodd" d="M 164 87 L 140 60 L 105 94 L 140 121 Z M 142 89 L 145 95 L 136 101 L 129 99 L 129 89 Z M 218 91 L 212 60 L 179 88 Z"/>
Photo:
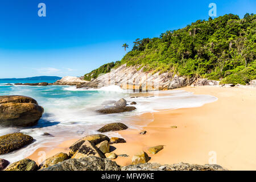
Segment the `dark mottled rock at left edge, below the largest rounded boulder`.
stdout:
<path fill-rule="evenodd" d="M 33 142 L 33 138 L 22 133 L 7 134 L 0 137 L 0 155 L 18 150 Z"/>

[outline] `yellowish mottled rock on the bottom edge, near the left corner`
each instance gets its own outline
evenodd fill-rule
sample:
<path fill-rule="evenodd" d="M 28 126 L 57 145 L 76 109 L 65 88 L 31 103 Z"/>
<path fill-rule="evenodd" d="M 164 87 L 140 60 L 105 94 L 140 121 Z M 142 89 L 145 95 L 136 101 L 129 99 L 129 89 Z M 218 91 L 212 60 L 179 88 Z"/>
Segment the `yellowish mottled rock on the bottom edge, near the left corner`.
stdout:
<path fill-rule="evenodd" d="M 38 165 L 34 160 L 22 159 L 8 166 L 5 171 L 36 171 Z"/>

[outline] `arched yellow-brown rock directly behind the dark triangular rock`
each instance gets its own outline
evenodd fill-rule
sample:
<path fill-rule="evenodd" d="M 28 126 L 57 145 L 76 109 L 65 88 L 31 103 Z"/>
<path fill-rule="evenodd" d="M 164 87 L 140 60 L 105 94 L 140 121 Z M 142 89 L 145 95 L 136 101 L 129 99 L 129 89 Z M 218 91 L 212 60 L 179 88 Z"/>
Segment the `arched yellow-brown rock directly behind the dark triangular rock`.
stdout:
<path fill-rule="evenodd" d="M 85 137 L 81 138 L 80 140 L 78 140 L 77 142 L 72 144 L 71 147 L 69 147 L 70 148 L 69 156 L 73 156 L 86 140 L 88 140 L 94 144 L 98 144 L 98 143 L 103 142 L 104 140 L 108 140 L 108 142 L 109 142 L 110 139 L 106 135 L 102 135 L 102 134 L 86 135 Z"/>

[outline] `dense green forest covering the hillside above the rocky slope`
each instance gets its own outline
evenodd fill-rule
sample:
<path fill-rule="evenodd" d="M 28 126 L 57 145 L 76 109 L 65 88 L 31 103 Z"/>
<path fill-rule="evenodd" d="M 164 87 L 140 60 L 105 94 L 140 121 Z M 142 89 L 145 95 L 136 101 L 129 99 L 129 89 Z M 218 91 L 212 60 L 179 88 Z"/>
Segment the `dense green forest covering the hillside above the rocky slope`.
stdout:
<path fill-rule="evenodd" d="M 243 19 L 228 14 L 197 20 L 159 38 L 137 39 L 121 61 L 108 63 L 85 75 L 85 80 L 121 64 L 139 65 L 145 72 L 173 72 L 179 76 L 247 84 L 256 78 L 256 15 Z"/>

